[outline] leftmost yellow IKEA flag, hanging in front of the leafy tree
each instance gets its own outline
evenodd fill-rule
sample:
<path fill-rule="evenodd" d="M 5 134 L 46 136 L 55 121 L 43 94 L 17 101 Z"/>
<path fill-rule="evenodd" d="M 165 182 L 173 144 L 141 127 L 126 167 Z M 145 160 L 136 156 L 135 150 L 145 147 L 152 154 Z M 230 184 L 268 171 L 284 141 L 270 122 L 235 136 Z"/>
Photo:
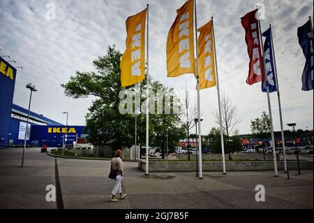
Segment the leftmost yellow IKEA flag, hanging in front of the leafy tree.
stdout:
<path fill-rule="evenodd" d="M 134 85 L 145 78 L 145 22 L 147 8 L 126 20 L 126 51 L 120 62 L 121 86 Z"/>

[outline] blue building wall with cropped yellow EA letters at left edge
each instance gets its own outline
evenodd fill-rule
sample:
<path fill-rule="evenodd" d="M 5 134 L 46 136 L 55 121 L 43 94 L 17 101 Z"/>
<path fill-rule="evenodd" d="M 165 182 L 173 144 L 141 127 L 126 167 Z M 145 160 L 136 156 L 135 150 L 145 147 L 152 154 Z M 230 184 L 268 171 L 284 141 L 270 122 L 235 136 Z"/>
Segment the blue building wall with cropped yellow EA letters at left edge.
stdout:
<path fill-rule="evenodd" d="M 0 146 L 8 145 L 16 69 L 0 57 Z"/>

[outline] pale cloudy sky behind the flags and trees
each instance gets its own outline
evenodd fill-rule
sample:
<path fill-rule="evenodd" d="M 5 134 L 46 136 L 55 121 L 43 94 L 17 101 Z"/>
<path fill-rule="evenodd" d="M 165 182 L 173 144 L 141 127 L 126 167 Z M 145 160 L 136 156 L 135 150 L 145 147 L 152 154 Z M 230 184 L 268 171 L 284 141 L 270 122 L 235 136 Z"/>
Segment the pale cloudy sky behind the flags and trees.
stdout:
<path fill-rule="evenodd" d="M 175 89 L 195 89 L 193 75 L 167 78 L 165 43 L 176 17 L 176 9 L 185 0 L 92 0 L 51 1 L 2 0 L 0 4 L 0 55 L 10 55 L 22 66 L 17 72 L 14 103 L 27 108 L 27 83 L 36 85 L 31 109 L 61 123 L 63 111 L 69 112 L 69 124 L 84 125 L 91 98 L 70 99 L 61 83 L 75 71 L 93 71 L 92 61 L 105 55 L 108 45 L 116 44 L 124 52 L 125 21 L 149 3 L 149 70 L 155 80 Z M 241 134 L 250 132 L 250 121 L 263 110 L 268 113 L 267 94 L 260 83 L 247 85 L 248 55 L 240 17 L 263 3 L 265 20 L 262 30 L 273 28 L 274 48 L 281 89 L 283 122 L 297 122 L 297 127 L 313 129 L 313 91 L 301 91 L 304 56 L 297 40 L 297 27 L 313 15 L 313 1 L 277 0 L 197 0 L 197 26 L 214 17 L 220 89 L 230 96 L 239 110 Z M 46 17 L 55 6 L 55 20 Z M 47 8 L 46 8 L 47 6 Z M 196 96 L 196 92 L 195 92 Z M 271 94 L 274 129 L 280 130 L 278 100 Z M 212 113 L 218 107 L 216 88 L 201 91 L 202 134 L 216 127 Z M 285 127 L 286 128 L 286 127 Z"/>

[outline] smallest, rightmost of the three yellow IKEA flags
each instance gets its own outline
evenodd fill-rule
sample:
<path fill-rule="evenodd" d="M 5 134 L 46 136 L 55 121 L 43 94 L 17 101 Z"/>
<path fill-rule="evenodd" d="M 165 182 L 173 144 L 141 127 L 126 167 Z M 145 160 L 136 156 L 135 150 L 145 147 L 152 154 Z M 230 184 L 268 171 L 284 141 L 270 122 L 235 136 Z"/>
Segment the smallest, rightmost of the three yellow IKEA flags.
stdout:
<path fill-rule="evenodd" d="M 197 29 L 198 38 L 198 73 L 200 75 L 200 89 L 216 86 L 216 71 L 214 62 L 214 41 L 212 20 Z"/>

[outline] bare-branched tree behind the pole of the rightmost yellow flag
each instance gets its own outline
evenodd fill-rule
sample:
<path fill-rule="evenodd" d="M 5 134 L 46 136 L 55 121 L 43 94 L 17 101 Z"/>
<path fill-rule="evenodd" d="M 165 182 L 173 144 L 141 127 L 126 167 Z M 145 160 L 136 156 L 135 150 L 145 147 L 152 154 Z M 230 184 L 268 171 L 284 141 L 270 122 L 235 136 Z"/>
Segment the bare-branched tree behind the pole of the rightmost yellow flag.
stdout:
<path fill-rule="evenodd" d="M 216 110 L 215 113 L 213 113 L 214 117 L 216 118 L 216 123 L 220 125 L 220 117 L 219 117 L 219 111 Z M 230 148 L 230 133 L 232 133 L 232 130 L 236 124 L 239 124 L 241 122 L 241 119 L 237 117 L 238 110 L 237 107 L 232 105 L 232 101 L 229 98 L 229 96 L 223 94 L 222 100 L 221 100 L 221 118 L 223 120 L 223 131 L 225 131 L 225 134 L 227 134 L 227 151 L 229 153 L 229 159 L 231 160 L 231 148 Z"/>

